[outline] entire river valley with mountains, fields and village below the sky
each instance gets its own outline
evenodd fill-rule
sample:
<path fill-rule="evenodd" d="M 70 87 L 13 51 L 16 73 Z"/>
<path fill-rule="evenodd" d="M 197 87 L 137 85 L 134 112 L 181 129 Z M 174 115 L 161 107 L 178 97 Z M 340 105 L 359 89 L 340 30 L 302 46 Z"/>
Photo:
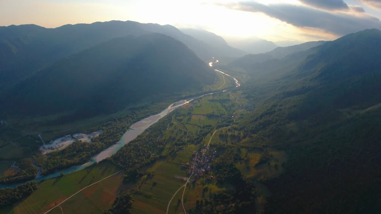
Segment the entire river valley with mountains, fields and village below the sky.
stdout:
<path fill-rule="evenodd" d="M 381 31 L 232 44 L 133 21 L 0 27 L 0 213 L 381 210 Z"/>

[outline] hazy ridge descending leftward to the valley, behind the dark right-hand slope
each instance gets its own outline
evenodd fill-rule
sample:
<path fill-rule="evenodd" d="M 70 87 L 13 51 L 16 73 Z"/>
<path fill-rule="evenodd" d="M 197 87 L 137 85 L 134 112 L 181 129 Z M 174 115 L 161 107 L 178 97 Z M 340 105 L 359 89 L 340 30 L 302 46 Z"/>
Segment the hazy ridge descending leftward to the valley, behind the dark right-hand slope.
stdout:
<path fill-rule="evenodd" d="M 261 63 L 265 62 L 265 66 L 273 66 L 275 59 L 282 59 L 287 55 L 295 54 L 298 52 L 309 50 L 310 48 L 324 44 L 325 41 L 306 42 L 300 45 L 293 45 L 288 47 L 278 47 L 272 51 L 261 54 L 248 54 L 239 59 L 235 59 L 230 63 L 232 67 L 240 67 L 247 70 L 255 70 L 257 67 L 261 67 Z M 306 56 L 306 54 L 304 54 Z M 267 63 L 266 63 L 267 62 Z"/>

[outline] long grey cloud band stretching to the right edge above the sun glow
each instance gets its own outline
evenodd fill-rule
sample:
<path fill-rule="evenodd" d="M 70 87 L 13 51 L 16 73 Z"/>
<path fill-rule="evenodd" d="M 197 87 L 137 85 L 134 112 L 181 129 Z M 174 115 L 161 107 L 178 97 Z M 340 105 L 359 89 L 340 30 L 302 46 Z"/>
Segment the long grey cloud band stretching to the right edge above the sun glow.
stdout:
<path fill-rule="evenodd" d="M 240 2 L 219 5 L 234 10 L 264 13 L 296 27 L 312 27 L 336 35 L 346 35 L 370 28 L 381 29 L 379 19 L 367 14 L 354 16 L 348 13 L 330 13 L 290 4 L 263 5 L 257 2 Z"/>

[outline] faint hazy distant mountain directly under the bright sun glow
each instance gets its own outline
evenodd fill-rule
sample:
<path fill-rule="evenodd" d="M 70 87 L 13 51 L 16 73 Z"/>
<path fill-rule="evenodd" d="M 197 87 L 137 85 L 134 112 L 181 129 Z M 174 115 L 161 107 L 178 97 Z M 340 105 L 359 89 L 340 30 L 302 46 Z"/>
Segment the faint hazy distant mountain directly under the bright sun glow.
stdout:
<path fill-rule="evenodd" d="M 274 42 L 260 38 L 247 38 L 245 40 L 231 41 L 229 42 L 229 45 L 250 54 L 266 53 L 278 47 Z"/>

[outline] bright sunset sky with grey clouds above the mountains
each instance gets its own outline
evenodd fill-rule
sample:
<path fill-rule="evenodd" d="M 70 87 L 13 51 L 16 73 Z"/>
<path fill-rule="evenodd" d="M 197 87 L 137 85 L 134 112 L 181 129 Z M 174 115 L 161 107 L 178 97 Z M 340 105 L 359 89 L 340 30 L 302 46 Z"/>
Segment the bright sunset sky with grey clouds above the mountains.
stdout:
<path fill-rule="evenodd" d="M 202 28 L 227 40 L 333 40 L 381 29 L 381 0 L 0 0 L 0 26 L 138 21 Z"/>

